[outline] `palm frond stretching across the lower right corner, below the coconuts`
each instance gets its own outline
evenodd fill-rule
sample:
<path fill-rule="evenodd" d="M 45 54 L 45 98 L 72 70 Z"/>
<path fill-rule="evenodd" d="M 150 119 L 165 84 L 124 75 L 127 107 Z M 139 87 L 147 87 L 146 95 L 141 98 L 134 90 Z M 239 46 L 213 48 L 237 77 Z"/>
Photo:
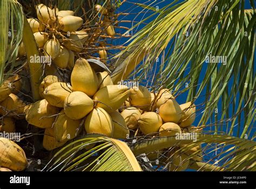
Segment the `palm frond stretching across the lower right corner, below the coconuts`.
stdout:
<path fill-rule="evenodd" d="M 170 150 L 175 146 L 181 146 L 167 156 Z M 179 157 L 181 154 L 187 154 L 187 151 L 198 145 L 203 146 L 201 150 L 188 154 L 185 161 L 190 161 L 190 168 L 196 168 L 198 171 L 251 171 L 255 168 L 256 159 L 256 143 L 255 141 L 231 137 L 226 134 L 197 133 L 197 140 L 186 139 L 181 140 L 176 137 L 158 137 L 150 140 L 138 141 L 131 145 L 131 150 L 135 156 L 139 154 L 148 154 L 153 151 L 166 149 L 162 157 L 165 161 L 162 166 L 168 167 L 172 164 L 173 157 Z M 169 150 L 168 150 L 169 149 Z M 218 153 L 215 153 L 217 152 Z M 199 152 L 203 152 L 200 155 Z M 202 161 L 194 160 L 198 156 L 203 158 Z M 159 159 L 161 157 L 159 156 Z"/>

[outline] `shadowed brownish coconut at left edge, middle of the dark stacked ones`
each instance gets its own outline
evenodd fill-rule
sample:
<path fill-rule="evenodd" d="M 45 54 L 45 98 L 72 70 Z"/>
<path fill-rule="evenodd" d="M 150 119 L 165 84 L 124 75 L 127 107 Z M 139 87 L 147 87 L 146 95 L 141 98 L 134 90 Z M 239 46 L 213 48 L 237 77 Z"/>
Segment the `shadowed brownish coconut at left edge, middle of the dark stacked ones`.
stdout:
<path fill-rule="evenodd" d="M 0 104 L 0 114 L 16 119 L 24 118 L 24 107 L 26 104 L 16 95 L 10 94 Z"/>

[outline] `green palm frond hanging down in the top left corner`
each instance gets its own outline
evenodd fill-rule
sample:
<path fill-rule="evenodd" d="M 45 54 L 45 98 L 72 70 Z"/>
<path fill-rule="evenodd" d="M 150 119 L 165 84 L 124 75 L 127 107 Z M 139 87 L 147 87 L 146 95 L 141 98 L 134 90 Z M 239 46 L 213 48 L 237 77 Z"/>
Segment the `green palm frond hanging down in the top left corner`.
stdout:
<path fill-rule="evenodd" d="M 0 84 L 14 68 L 22 40 L 23 10 L 21 4 L 14 0 L 0 2 Z M 6 76 L 4 77 L 4 73 Z"/>

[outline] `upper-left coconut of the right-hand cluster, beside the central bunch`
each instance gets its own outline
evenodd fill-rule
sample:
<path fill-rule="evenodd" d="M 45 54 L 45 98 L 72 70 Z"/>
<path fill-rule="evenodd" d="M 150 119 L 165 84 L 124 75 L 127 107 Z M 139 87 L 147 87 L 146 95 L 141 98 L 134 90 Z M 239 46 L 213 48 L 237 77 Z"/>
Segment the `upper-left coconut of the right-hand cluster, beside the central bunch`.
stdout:
<path fill-rule="evenodd" d="M 151 103 L 151 93 L 145 86 L 133 86 L 131 89 L 131 104 L 139 109 L 148 109 Z"/>

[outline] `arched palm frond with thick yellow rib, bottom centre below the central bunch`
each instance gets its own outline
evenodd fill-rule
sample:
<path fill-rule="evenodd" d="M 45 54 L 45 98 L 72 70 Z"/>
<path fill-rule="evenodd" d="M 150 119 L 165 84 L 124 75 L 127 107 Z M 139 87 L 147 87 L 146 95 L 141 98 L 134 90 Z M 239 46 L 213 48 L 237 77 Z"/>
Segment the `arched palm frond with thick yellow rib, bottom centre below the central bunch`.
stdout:
<path fill-rule="evenodd" d="M 53 156 L 45 170 L 142 171 L 123 141 L 92 134 L 63 147 Z"/>

